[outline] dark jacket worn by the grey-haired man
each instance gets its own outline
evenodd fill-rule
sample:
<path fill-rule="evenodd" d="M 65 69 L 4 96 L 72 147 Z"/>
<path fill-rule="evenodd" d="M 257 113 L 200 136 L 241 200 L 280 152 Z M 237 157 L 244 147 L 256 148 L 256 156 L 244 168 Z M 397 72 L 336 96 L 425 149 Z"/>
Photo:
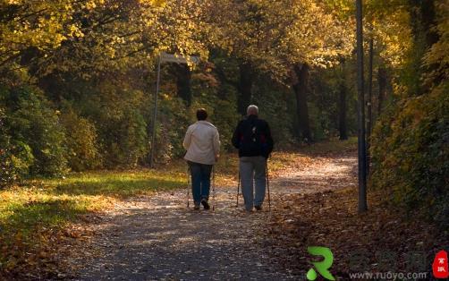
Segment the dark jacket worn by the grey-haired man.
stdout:
<path fill-rule="evenodd" d="M 273 151 L 273 138 L 267 121 L 250 115 L 241 120 L 233 132 L 233 146 L 239 149 L 239 157 L 263 156 Z"/>

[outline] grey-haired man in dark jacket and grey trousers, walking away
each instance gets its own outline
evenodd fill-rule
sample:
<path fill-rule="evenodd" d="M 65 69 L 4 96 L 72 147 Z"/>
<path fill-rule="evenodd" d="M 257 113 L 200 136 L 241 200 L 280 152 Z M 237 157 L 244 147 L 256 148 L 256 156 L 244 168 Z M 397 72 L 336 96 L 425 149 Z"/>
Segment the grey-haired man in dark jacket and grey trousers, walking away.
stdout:
<path fill-rule="evenodd" d="M 239 149 L 245 209 L 250 211 L 254 207 L 260 210 L 265 199 L 267 158 L 273 150 L 273 139 L 268 123 L 258 119 L 258 106 L 248 106 L 247 117 L 241 120 L 233 133 L 233 146 Z"/>

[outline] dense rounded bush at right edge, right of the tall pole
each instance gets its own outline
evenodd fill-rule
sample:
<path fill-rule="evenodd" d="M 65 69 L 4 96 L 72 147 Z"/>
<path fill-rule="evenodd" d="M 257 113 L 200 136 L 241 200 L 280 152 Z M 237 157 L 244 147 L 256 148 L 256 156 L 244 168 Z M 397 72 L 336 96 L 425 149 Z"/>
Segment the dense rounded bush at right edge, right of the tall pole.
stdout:
<path fill-rule="evenodd" d="M 410 209 L 428 209 L 449 227 L 449 83 L 430 94 L 399 101 L 373 134 L 371 175 L 375 188 Z"/>

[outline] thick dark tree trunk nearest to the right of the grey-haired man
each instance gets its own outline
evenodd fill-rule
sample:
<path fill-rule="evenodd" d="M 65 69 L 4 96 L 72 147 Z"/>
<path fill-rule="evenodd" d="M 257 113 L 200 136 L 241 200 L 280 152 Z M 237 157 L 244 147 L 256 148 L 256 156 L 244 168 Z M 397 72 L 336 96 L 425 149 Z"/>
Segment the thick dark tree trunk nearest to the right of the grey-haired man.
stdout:
<path fill-rule="evenodd" d="M 309 65 L 296 64 L 294 66 L 296 81 L 293 83 L 293 90 L 296 96 L 296 111 L 298 115 L 298 125 L 300 129 L 300 140 L 312 141 L 309 125 L 309 107 L 307 106 L 307 92 L 309 87 Z"/>

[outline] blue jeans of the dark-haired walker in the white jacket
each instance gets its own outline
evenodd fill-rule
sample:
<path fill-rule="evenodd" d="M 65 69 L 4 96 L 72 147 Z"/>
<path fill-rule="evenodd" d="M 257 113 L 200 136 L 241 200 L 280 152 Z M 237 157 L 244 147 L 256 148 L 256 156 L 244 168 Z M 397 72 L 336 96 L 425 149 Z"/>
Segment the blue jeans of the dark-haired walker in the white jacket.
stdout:
<path fill-rule="evenodd" d="M 199 205 L 201 200 L 208 200 L 210 191 L 210 174 L 212 165 L 187 161 L 191 169 L 191 194 L 193 201 Z"/>

